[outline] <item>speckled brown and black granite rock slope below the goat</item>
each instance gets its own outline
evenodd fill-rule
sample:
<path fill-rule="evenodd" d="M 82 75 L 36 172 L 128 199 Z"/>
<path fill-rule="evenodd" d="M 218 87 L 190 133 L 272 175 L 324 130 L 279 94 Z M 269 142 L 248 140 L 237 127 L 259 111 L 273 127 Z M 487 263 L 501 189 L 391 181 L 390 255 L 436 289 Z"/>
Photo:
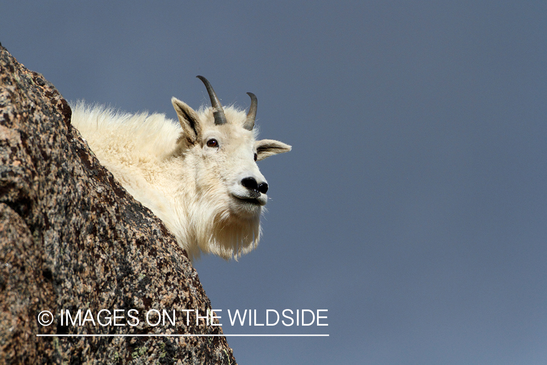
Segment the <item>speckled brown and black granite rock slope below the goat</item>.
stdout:
<path fill-rule="evenodd" d="M 222 334 L 186 326 L 182 309 L 211 303 L 185 251 L 70 122 L 59 91 L 0 45 L 0 363 L 235 364 L 224 337 L 36 336 Z M 136 309 L 140 323 L 61 326 L 61 309 Z M 149 326 L 149 309 L 176 310 L 176 325 Z"/>

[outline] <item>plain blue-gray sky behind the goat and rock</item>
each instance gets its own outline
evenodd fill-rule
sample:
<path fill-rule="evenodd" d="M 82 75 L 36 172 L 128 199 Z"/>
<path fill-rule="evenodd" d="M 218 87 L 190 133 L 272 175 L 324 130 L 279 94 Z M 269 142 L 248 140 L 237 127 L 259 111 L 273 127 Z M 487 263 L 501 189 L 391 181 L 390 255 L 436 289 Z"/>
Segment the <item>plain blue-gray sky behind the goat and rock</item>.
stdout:
<path fill-rule="evenodd" d="M 258 250 L 195 267 L 241 364 L 547 363 L 544 1 L 4 2 L 68 100 L 175 118 L 258 96 Z M 227 309 L 328 309 L 232 328 Z M 260 322 L 260 320 L 259 320 Z"/>

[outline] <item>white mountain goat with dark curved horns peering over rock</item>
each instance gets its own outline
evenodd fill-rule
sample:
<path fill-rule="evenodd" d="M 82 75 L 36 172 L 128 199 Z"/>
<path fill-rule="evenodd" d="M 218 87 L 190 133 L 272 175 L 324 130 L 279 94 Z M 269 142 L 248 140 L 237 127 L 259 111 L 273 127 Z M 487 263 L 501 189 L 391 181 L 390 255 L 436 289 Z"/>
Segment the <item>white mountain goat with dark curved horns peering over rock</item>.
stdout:
<path fill-rule="evenodd" d="M 236 260 L 257 247 L 268 184 L 256 161 L 288 144 L 256 140 L 257 97 L 246 114 L 223 108 L 211 84 L 210 108 L 194 111 L 173 97 L 179 123 L 164 114 L 124 114 L 76 103 L 72 124 L 98 160 L 150 208 L 190 259 L 200 250 Z"/>

